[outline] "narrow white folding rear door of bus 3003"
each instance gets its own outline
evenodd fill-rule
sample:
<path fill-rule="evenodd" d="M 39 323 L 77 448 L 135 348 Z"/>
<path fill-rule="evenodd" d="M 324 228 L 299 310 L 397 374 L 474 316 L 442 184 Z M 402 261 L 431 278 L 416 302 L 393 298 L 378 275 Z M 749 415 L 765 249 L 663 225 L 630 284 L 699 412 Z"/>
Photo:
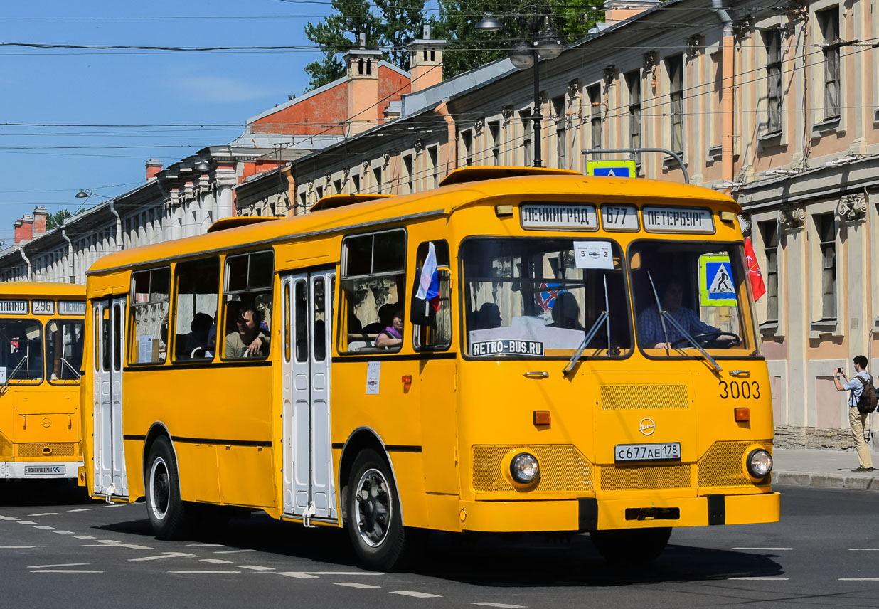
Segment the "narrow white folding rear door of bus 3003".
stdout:
<path fill-rule="evenodd" d="M 125 345 L 125 299 L 94 301 L 94 492 L 128 497 L 122 446 L 122 356 Z"/>

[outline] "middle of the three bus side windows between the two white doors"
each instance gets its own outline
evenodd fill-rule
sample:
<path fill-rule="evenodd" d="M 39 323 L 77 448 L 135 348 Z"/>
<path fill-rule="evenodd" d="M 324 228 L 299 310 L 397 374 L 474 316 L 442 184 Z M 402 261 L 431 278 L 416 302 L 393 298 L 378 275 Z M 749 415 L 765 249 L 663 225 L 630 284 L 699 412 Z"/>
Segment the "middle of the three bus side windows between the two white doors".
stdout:
<path fill-rule="evenodd" d="M 213 359 L 216 353 L 220 258 L 181 262 L 174 270 L 174 361 Z"/>

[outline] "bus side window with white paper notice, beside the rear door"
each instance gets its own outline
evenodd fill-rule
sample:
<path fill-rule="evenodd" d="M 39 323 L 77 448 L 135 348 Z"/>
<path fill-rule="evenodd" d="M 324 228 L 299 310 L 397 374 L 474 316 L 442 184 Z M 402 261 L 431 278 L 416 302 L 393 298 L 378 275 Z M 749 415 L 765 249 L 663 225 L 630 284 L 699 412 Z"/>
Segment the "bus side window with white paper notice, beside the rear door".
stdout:
<path fill-rule="evenodd" d="M 171 269 L 167 266 L 131 273 L 134 332 L 130 364 L 162 364 L 168 352 Z M 109 349 L 108 349 L 109 351 Z M 109 353 L 106 353 L 109 356 Z"/>

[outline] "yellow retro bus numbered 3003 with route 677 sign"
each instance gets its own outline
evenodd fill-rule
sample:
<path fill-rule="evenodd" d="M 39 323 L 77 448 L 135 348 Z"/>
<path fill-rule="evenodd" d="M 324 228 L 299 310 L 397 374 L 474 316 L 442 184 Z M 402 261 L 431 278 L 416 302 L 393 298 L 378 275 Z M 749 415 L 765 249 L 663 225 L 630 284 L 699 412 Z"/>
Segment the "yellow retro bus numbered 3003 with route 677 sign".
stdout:
<path fill-rule="evenodd" d="M 205 505 L 344 526 L 372 569 L 424 530 L 589 532 L 639 562 L 673 526 L 774 522 L 739 212 L 693 185 L 466 168 L 102 257 L 91 494 L 145 498 L 163 539 Z"/>

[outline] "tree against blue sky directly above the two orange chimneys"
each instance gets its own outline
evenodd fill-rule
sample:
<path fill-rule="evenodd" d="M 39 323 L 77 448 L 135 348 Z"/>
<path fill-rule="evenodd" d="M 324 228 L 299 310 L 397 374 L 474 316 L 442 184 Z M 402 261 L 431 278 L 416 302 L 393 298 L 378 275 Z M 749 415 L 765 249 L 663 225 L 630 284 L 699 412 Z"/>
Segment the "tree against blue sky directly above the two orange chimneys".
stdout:
<path fill-rule="evenodd" d="M 309 91 L 345 75 L 338 54 L 360 47 L 360 33 L 367 47 L 383 49 L 382 58 L 398 68 L 409 69 L 412 40 L 425 23 L 425 0 L 332 0 L 333 13 L 317 24 L 305 25 L 305 35 L 323 49 L 323 59 L 305 66 Z"/>

